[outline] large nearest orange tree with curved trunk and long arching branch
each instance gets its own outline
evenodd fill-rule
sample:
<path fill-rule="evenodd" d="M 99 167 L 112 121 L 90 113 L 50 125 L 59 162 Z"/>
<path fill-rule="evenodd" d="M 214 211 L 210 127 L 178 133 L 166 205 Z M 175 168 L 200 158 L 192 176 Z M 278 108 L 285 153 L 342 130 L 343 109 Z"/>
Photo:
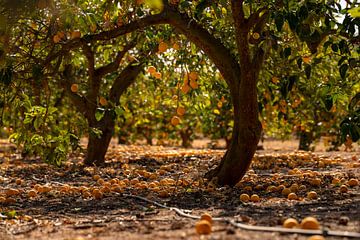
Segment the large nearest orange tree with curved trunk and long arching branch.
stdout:
<path fill-rule="evenodd" d="M 347 22 L 338 24 L 333 16 L 341 10 L 335 1 L 156 2 L 153 14 L 92 37 L 102 39 L 154 24 L 170 24 L 213 61 L 227 82 L 234 109 L 230 146 L 219 166 L 206 175 L 221 185 L 235 185 L 255 153 L 261 135 L 257 82 L 268 52 L 283 43 L 284 22 L 311 52 L 329 35 L 355 34 L 355 19 L 347 16 Z"/>

